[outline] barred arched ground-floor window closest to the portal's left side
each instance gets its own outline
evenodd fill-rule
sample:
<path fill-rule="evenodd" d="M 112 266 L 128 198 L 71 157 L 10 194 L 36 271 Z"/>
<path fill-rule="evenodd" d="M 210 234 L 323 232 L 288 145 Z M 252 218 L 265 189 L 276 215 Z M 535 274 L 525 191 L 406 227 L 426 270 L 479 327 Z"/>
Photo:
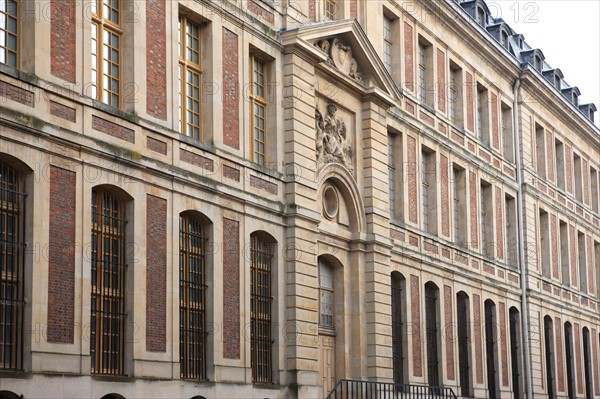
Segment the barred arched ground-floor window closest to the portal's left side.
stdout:
<path fill-rule="evenodd" d="M 250 265 L 250 356 L 252 380 L 273 381 L 271 339 L 271 269 L 274 242 L 267 236 L 254 233 L 251 238 Z"/>

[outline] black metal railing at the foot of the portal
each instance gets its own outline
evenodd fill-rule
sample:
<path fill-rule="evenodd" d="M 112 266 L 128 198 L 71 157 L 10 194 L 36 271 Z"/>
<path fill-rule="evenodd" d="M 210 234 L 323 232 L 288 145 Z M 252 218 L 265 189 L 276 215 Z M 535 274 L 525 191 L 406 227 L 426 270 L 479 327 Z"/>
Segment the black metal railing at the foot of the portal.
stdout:
<path fill-rule="evenodd" d="M 452 388 L 391 382 L 340 380 L 327 399 L 457 399 Z"/>

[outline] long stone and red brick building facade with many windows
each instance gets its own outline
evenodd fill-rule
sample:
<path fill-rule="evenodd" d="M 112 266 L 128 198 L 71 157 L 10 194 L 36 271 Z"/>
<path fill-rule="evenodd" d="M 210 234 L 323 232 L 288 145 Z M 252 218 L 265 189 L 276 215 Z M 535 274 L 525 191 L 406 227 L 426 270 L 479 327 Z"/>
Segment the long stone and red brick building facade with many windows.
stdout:
<path fill-rule="evenodd" d="M 99 21 L 77 2 L 20 21 L 18 65 L 0 68 L 2 190 L 14 172 L 25 194 L 17 210 L 0 196 L 24 241 L 20 263 L 0 255 L 22 267 L 14 328 L 31 332 L 0 391 L 317 398 L 436 378 L 475 398 L 600 394 L 595 107 L 482 0 L 123 3 L 120 107 L 89 97 Z M 198 27 L 185 96 L 180 16 Z M 93 222 L 96 191 L 120 213 Z M 122 291 L 97 288 L 98 254 L 123 261 Z M 94 295 L 123 304 L 119 373 L 92 367 Z"/>

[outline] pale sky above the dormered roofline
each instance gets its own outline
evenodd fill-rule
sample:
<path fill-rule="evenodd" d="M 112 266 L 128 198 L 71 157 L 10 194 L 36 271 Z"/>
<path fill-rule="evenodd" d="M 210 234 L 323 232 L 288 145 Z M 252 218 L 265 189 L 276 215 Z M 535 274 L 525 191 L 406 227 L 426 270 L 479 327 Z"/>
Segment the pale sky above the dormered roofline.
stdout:
<path fill-rule="evenodd" d="M 581 91 L 580 104 L 600 110 L 600 0 L 488 0 L 533 48 L 539 48 L 565 80 Z M 600 126 L 600 113 L 596 125 Z"/>

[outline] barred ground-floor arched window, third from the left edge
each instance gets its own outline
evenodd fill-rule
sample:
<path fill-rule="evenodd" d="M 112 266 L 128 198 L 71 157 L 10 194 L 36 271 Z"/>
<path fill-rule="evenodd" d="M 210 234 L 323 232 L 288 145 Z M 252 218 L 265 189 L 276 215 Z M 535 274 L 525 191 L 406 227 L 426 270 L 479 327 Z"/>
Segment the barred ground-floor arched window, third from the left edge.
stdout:
<path fill-rule="evenodd" d="M 179 216 L 179 362 L 181 378 L 206 378 L 206 242 L 203 223 Z"/>

